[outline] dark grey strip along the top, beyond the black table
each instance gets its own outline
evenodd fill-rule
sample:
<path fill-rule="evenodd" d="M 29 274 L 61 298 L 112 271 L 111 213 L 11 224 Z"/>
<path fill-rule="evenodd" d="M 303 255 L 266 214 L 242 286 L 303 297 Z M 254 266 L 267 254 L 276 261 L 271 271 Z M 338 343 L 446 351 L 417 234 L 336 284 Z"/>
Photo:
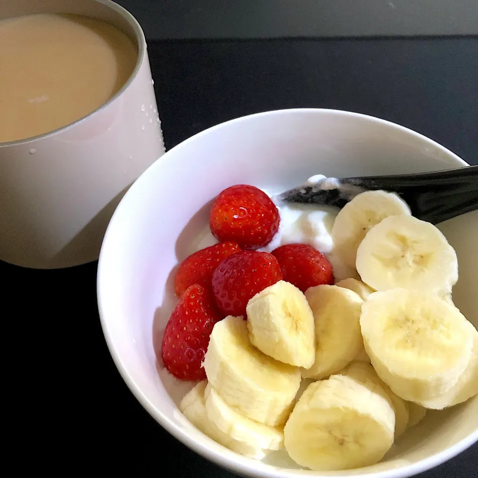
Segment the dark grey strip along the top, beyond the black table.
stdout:
<path fill-rule="evenodd" d="M 116 0 L 148 40 L 477 35 L 476 0 Z"/>

